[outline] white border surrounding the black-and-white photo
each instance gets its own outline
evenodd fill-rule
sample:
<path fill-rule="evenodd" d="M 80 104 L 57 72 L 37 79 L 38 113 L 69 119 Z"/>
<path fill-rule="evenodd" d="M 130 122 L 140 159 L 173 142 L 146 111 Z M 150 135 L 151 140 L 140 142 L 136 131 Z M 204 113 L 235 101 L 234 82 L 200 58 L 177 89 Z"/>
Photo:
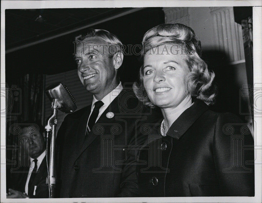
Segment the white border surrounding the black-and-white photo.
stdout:
<path fill-rule="evenodd" d="M 101 3 L 102 2 L 102 3 Z M 40 8 L 107 8 L 107 7 L 216 7 L 216 6 L 253 6 L 254 39 L 254 83 L 262 83 L 262 15 L 261 1 L 171 1 L 171 0 L 115 0 L 115 1 L 1 1 L 1 88 L 5 84 L 5 9 Z M 1 109 L 6 106 L 1 96 Z M 261 107 L 260 107 L 261 109 Z M 261 132 L 262 115 L 254 116 L 259 124 L 256 132 L 255 160 L 255 197 L 130 197 L 130 198 L 60 198 L 60 199 L 19 199 L 19 202 L 261 202 Z M 1 116 L 1 202 L 18 202 L 6 199 L 6 119 Z"/>

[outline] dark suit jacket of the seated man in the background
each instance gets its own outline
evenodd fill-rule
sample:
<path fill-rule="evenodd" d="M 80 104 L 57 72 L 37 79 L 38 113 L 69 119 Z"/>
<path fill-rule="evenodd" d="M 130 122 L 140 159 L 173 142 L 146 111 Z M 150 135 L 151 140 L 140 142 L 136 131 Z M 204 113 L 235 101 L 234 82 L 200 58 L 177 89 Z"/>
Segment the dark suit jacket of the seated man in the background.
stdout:
<path fill-rule="evenodd" d="M 12 172 L 12 189 L 18 190 L 20 192 L 25 192 L 25 184 L 28 176 L 29 167 L 19 168 L 19 172 Z M 30 196 L 30 198 L 47 198 L 47 186 L 46 186 L 46 177 L 47 177 L 47 167 L 46 167 L 46 156 L 43 159 L 42 163 L 39 166 L 39 172 L 36 173 L 35 179 L 32 182 L 32 185 L 36 185 L 35 195 Z M 34 192 L 34 186 L 31 187 L 31 191 L 28 193 Z"/>

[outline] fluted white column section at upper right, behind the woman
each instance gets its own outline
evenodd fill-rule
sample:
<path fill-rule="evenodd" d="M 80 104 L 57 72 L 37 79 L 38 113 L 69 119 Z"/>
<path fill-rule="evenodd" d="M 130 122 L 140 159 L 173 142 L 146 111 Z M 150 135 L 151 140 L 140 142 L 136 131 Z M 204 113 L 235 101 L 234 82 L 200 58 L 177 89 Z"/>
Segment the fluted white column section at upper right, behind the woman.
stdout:
<path fill-rule="evenodd" d="M 231 63 L 243 63 L 244 45 L 241 25 L 234 21 L 233 7 L 209 7 L 213 17 L 215 41 Z"/>

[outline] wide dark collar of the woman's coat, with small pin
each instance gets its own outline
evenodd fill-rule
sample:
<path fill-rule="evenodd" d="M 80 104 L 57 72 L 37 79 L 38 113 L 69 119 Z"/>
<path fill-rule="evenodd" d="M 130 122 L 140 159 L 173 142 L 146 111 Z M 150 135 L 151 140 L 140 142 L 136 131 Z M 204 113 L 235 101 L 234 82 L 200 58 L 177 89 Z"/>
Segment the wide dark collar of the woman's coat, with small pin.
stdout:
<path fill-rule="evenodd" d="M 166 135 L 179 139 L 190 126 L 205 112 L 208 106 L 205 102 L 195 99 L 194 104 L 186 109 L 171 125 Z"/>

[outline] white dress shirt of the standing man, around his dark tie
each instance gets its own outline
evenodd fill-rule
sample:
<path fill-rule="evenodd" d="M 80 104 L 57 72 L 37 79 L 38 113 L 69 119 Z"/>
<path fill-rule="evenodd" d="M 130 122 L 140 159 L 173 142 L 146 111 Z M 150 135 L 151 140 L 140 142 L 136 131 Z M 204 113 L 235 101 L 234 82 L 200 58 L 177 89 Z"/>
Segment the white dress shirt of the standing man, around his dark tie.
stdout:
<path fill-rule="evenodd" d="M 96 122 L 100 118 L 102 113 L 106 110 L 106 108 L 111 104 L 111 102 L 119 95 L 119 93 L 122 91 L 122 89 L 123 89 L 123 86 L 120 82 L 119 85 L 115 89 L 113 89 L 111 92 L 109 92 L 105 97 L 103 97 L 101 99 L 101 101 L 104 103 L 104 105 L 99 109 L 99 113 L 98 113 Z M 98 100 L 95 98 L 95 96 L 93 96 L 92 107 L 91 107 L 91 112 L 90 112 L 89 117 L 88 117 L 88 121 L 89 121 L 89 118 L 90 118 L 94 108 L 95 108 L 95 102 L 97 102 L 97 101 Z M 86 125 L 88 124 L 88 121 L 87 121 Z M 87 125 L 87 127 L 89 129 L 88 125 Z M 89 131 L 90 131 L 90 129 L 89 129 Z"/>

